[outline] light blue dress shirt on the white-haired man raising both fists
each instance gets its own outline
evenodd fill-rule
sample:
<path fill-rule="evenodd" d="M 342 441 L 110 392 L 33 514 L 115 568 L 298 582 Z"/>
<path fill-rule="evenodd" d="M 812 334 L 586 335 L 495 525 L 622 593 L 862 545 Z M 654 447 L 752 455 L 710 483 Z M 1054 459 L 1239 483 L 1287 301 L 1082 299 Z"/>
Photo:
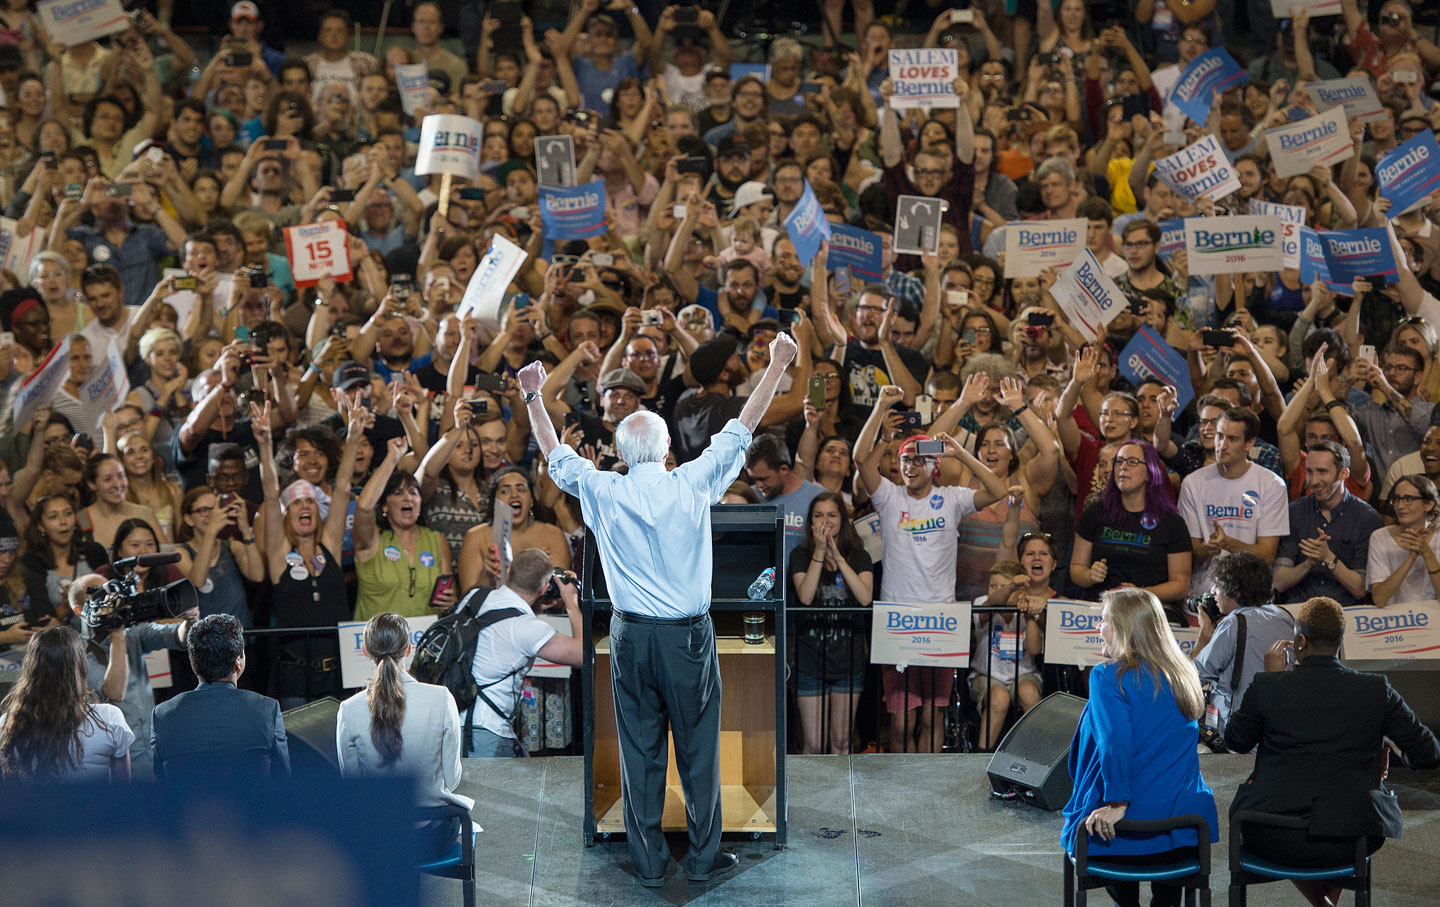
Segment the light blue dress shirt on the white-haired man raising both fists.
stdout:
<path fill-rule="evenodd" d="M 710 505 L 744 466 L 750 432 L 732 419 L 696 459 L 602 472 L 570 445 L 550 451 L 550 478 L 580 498 L 616 610 L 694 618 L 710 609 Z"/>

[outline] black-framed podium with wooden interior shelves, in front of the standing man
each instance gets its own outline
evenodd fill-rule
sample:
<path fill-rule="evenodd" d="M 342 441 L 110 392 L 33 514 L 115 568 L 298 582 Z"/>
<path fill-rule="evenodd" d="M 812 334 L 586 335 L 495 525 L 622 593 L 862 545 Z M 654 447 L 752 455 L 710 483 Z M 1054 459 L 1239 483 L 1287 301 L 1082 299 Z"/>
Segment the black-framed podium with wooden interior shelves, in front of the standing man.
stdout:
<path fill-rule="evenodd" d="M 785 845 L 785 521 L 765 504 L 716 504 L 710 508 L 714 567 L 710 616 L 720 659 L 720 799 L 727 839 L 773 839 Z M 611 685 L 611 597 L 595 536 L 585 533 L 585 665 L 580 691 L 585 714 L 585 844 L 625 835 L 621 802 L 619 739 Z M 760 600 L 747 597 L 766 567 L 775 586 Z M 765 615 L 765 642 L 744 641 L 743 615 Z M 685 832 L 685 798 L 668 744 L 665 832 Z"/>

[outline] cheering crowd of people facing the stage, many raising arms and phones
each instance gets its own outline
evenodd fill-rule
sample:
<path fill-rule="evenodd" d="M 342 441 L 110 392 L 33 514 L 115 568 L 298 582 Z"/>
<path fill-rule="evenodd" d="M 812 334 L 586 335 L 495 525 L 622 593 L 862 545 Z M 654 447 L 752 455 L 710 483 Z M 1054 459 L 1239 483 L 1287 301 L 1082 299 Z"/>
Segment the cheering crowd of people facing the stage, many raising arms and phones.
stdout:
<path fill-rule="evenodd" d="M 284 707 L 340 695 L 336 635 L 302 628 L 446 613 L 503 586 L 505 538 L 580 563 L 580 504 L 536 455 L 520 369 L 547 364 L 544 419 L 598 468 L 625 468 L 615 429 L 641 410 L 674 466 L 763 390 L 788 333 L 798 354 L 723 500 L 783 511 L 805 752 L 867 746 L 867 691 L 881 749 L 952 746 L 958 700 L 979 714 L 966 746 L 994 747 L 1045 692 L 1083 690 L 1044 661 L 1047 602 L 1122 587 L 1200 628 L 1223 724 L 1260 636 L 1287 632 L 1276 605 L 1440 597 L 1440 193 L 1392 215 L 1377 191 L 1387 154 L 1440 130 L 1440 48 L 1401 0 L 1279 22 L 1243 6 L 986 1 L 922 22 L 827 3 L 815 37 L 756 50 L 708 10 L 582 0 L 550 29 L 491 10 L 461 56 L 442 42 L 456 23 L 419 3 L 377 59 L 344 10 L 300 55 L 240 0 L 203 63 L 145 13 L 69 48 L 0 13 L 0 229 L 29 249 L 0 271 L 0 645 L 79 625 L 89 684 L 147 763 L 144 655 L 183 648 L 190 622 L 107 649 L 76 615 L 115 561 L 179 551 L 140 589 L 187 577 L 197 616 L 295 631 L 251 639 L 242 685 Z M 1156 85 L 1221 46 L 1248 78 L 1178 135 Z M 958 52 L 955 107 L 897 109 L 903 48 Z M 408 108 L 396 66 L 413 63 L 428 88 Z M 1342 75 L 1384 115 L 1351 119 L 1344 163 L 1279 177 L 1266 131 Z M 432 114 L 484 124 L 480 174 L 444 181 L 444 206 L 441 176 L 416 173 Z M 1220 200 L 1152 167 L 1205 132 L 1241 183 Z M 546 236 L 549 135 L 605 184 L 592 239 Z M 828 243 L 801 256 L 786 223 L 806 189 L 871 232 L 878 275 L 834 266 Z M 933 251 L 894 251 L 899 196 L 943 202 Z M 1338 291 L 1297 269 L 1191 274 L 1162 249 L 1161 222 L 1254 200 L 1318 230 L 1384 227 L 1397 274 Z M 1128 301 L 1097 340 L 1054 271 L 1007 276 L 1008 225 L 1070 217 Z M 350 279 L 297 281 L 284 229 L 328 220 Z M 461 301 L 494 238 L 527 258 L 482 324 Z M 1192 399 L 1122 361 L 1142 327 L 1187 360 Z M 32 405 L 56 356 L 63 380 Z M 89 379 L 117 358 L 130 390 L 95 412 Z M 543 573 L 514 599 L 560 616 Z M 972 668 L 871 668 L 874 600 L 992 606 Z M 556 639 L 516 633 L 488 678 L 477 656 L 477 680 L 507 678 L 485 749 L 570 743 L 563 690 L 508 690 L 511 649 L 577 661 Z M 177 690 L 197 681 L 177 658 Z"/>

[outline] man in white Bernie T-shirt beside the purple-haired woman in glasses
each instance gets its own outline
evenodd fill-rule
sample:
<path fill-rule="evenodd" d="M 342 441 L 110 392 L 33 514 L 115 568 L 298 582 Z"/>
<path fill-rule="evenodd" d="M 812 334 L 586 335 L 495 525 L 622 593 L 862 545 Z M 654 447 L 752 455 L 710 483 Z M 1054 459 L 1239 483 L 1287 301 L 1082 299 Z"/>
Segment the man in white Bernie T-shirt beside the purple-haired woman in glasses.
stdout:
<path fill-rule="evenodd" d="M 1248 551 L 1272 564 L 1280 538 L 1290 534 L 1284 479 L 1250 462 L 1259 432 L 1253 412 L 1227 409 L 1215 425 L 1214 465 L 1191 472 L 1179 487 L 1179 515 L 1195 557 L 1191 595 L 1210 590 L 1217 554 Z"/>

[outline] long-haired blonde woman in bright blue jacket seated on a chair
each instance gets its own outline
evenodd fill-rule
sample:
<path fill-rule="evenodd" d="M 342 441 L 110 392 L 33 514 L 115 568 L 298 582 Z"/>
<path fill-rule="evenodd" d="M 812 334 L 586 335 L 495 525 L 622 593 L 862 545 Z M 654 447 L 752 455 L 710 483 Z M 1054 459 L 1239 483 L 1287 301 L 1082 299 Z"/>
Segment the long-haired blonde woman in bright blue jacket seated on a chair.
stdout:
<path fill-rule="evenodd" d="M 1200 776 L 1195 743 L 1205 700 L 1200 675 L 1171 635 L 1161 602 L 1143 589 L 1100 596 L 1100 654 L 1090 674 L 1090 701 L 1070 744 L 1074 793 L 1066 803 L 1060 842 L 1076 851 L 1076 835 L 1090 835 L 1092 859 L 1158 864 L 1195 847 L 1189 829 L 1164 835 L 1116 834 L 1120 819 L 1168 819 L 1195 813 L 1220 839 L 1215 795 Z M 1139 907 L 1138 883 L 1106 885 L 1122 907 Z M 1152 906 L 1181 901 L 1181 888 L 1153 884 Z"/>

